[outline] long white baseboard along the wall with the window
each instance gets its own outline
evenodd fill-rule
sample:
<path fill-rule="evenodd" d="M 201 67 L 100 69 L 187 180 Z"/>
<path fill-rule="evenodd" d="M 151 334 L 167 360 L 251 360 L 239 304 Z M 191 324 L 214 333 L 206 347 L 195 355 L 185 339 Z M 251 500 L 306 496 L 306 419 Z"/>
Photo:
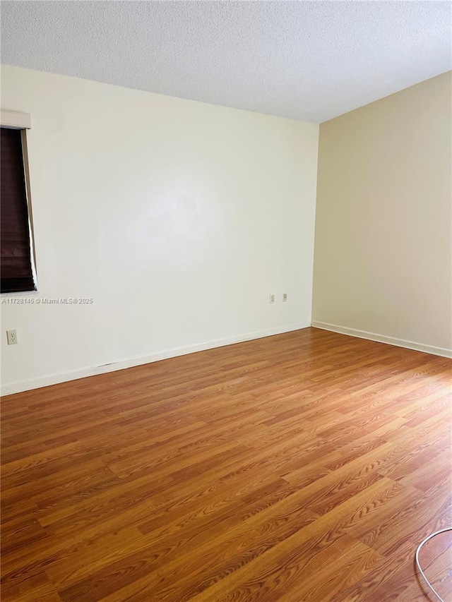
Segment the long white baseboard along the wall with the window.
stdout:
<path fill-rule="evenodd" d="M 40 378 L 20 380 L 16 381 L 16 383 L 8 383 L 7 385 L 1 385 L 1 395 L 12 395 L 13 393 L 30 391 L 32 389 L 39 389 L 40 387 L 48 387 L 49 385 L 57 385 L 57 383 L 66 383 L 66 381 L 69 380 L 77 380 L 78 378 L 85 378 L 87 376 L 94 376 L 96 374 L 105 374 L 107 372 L 124 370 L 124 368 L 132 368 L 133 366 L 142 366 L 144 363 L 151 363 L 154 361 L 160 361 L 162 359 L 168 359 L 171 357 L 192 354 L 196 353 L 196 351 L 215 349 L 215 347 L 225 347 L 226 345 L 232 345 L 234 343 L 242 343 L 245 341 L 252 341 L 254 339 L 263 339 L 264 337 L 271 337 L 272 335 L 282 335 L 284 332 L 292 332 L 292 330 L 301 330 L 302 328 L 308 328 L 309 326 L 311 326 L 310 322 L 299 322 L 276 328 L 269 328 L 268 330 L 247 332 L 244 335 L 227 337 L 226 339 L 217 339 L 213 341 L 197 343 L 194 345 L 186 345 L 184 347 L 174 347 L 173 349 L 157 351 L 157 353 L 154 354 L 120 359 L 118 361 L 113 361 L 112 363 L 107 364 L 101 364 L 99 366 L 78 368 L 76 370 L 71 370 L 67 372 L 49 374 Z"/>

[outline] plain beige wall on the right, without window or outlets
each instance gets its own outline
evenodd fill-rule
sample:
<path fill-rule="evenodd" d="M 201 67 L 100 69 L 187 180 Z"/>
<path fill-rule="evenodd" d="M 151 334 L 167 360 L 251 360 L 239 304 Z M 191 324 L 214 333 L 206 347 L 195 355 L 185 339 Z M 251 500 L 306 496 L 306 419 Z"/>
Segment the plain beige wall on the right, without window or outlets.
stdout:
<path fill-rule="evenodd" d="M 451 73 L 321 124 L 315 324 L 451 349 L 451 164 Z"/>

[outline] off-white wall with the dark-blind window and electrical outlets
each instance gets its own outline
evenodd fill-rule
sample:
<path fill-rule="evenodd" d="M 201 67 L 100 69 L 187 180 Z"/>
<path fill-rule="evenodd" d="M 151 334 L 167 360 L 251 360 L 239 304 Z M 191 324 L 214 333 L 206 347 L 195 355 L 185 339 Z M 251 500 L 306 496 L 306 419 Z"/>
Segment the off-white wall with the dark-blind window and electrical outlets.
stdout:
<path fill-rule="evenodd" d="M 319 126 L 9 66 L 1 84 L 32 118 L 39 292 L 15 297 L 93 299 L 1 305 L 4 392 L 309 325 Z"/>

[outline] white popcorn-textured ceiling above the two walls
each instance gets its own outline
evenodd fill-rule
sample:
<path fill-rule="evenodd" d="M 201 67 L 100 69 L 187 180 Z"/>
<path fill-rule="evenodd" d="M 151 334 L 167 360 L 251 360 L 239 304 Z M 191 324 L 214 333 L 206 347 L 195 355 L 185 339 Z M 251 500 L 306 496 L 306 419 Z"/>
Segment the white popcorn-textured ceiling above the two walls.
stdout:
<path fill-rule="evenodd" d="M 1 62 L 325 121 L 451 69 L 448 1 L 2 1 Z"/>

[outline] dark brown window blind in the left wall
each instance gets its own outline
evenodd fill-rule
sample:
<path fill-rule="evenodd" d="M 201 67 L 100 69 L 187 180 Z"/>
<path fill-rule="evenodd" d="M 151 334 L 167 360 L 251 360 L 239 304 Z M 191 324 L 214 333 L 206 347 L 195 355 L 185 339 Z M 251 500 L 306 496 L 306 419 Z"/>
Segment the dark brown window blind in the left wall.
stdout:
<path fill-rule="evenodd" d="M 20 130 L 0 128 L 0 163 L 1 292 L 34 291 Z"/>

